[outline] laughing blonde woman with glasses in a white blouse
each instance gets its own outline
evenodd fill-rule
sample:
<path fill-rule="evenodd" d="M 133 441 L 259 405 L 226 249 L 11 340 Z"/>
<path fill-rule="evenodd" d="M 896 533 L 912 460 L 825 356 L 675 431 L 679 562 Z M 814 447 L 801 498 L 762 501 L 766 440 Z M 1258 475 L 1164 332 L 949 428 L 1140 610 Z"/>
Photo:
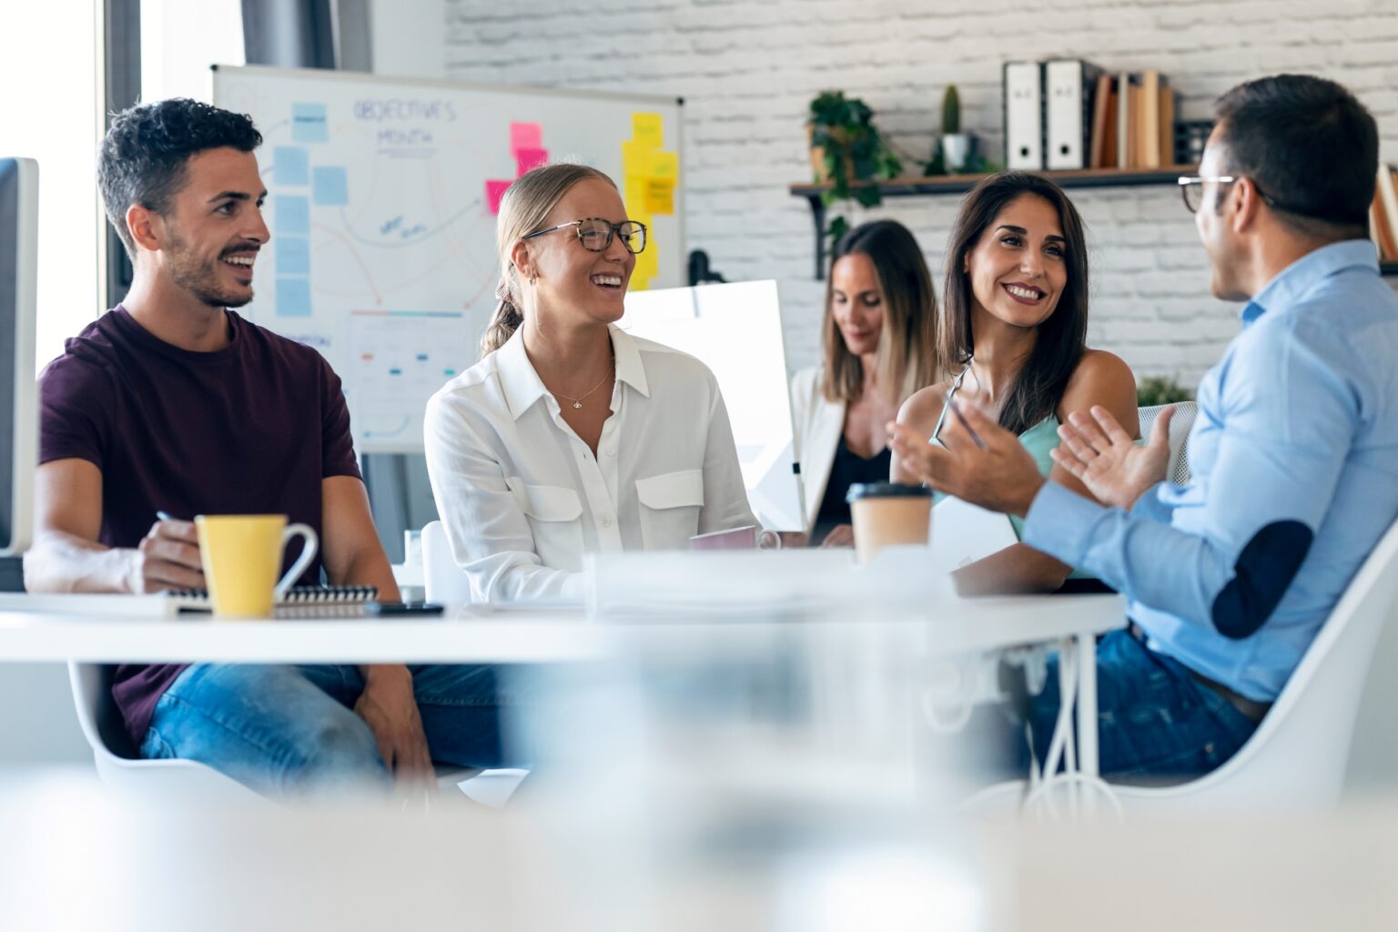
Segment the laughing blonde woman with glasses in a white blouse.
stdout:
<path fill-rule="evenodd" d="M 615 327 L 646 233 L 582 165 L 537 168 L 500 200 L 484 358 L 432 397 L 425 428 L 477 601 L 577 599 L 586 552 L 756 524 L 713 374 Z"/>

